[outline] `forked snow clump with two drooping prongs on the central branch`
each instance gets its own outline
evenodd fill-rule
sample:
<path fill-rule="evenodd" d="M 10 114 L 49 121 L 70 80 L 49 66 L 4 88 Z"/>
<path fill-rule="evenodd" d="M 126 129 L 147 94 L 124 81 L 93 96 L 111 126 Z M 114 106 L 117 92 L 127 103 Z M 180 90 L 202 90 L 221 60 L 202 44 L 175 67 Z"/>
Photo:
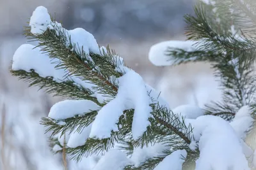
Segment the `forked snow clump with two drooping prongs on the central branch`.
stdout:
<path fill-rule="evenodd" d="M 149 125 L 151 107 L 145 83 L 140 74 L 129 71 L 118 78 L 118 94 L 103 106 L 92 125 L 90 138 L 109 138 L 111 131 L 118 131 L 116 123 L 124 110 L 134 108 L 132 137 L 139 138 Z"/>

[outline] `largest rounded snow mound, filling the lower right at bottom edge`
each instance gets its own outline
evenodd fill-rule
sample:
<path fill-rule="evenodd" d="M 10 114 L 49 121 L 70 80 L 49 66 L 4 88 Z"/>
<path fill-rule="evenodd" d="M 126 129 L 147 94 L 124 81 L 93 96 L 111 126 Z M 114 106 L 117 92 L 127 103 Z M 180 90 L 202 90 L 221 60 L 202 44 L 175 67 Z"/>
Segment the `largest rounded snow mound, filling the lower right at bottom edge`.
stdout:
<path fill-rule="evenodd" d="M 228 169 L 249 170 L 240 139 L 228 122 L 211 115 L 193 122 L 193 135 L 199 141 L 200 157 L 196 170 Z"/>

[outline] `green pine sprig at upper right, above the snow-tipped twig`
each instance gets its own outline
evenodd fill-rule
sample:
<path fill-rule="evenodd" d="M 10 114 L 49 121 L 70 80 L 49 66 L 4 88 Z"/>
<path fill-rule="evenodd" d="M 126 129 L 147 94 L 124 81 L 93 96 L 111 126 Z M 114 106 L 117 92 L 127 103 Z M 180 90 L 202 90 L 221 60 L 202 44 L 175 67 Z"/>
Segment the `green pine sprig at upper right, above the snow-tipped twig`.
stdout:
<path fill-rule="evenodd" d="M 185 15 L 186 35 L 188 39 L 201 41 L 202 47 L 212 49 L 212 51 L 223 53 L 227 51 L 243 51 L 253 50 L 255 52 L 255 42 L 252 39 L 240 37 L 237 39 L 231 32 L 218 31 L 218 25 L 212 25 L 209 22 L 207 13 L 202 4 L 195 6 L 195 15 Z M 229 25 L 230 27 L 231 25 Z"/>

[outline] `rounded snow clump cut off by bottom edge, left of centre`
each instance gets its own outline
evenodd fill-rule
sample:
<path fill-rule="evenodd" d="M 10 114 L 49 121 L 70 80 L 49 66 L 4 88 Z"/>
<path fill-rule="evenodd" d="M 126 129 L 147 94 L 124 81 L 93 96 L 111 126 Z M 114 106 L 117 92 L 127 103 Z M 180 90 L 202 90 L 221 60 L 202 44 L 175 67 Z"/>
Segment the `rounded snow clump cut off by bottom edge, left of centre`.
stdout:
<path fill-rule="evenodd" d="M 126 157 L 124 152 L 120 150 L 109 150 L 99 160 L 96 166 L 93 167 L 93 170 L 123 170 L 129 164 L 131 164 L 131 161 Z"/>

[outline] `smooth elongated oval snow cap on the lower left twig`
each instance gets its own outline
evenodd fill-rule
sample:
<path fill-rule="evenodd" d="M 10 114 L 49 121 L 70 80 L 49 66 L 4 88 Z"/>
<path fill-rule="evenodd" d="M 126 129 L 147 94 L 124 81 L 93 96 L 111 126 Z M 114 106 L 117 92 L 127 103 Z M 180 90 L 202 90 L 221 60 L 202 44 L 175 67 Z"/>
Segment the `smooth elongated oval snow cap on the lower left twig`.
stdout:
<path fill-rule="evenodd" d="M 65 100 L 54 104 L 48 117 L 59 120 L 83 115 L 91 111 L 99 110 L 100 107 L 93 101 L 88 100 Z"/>

